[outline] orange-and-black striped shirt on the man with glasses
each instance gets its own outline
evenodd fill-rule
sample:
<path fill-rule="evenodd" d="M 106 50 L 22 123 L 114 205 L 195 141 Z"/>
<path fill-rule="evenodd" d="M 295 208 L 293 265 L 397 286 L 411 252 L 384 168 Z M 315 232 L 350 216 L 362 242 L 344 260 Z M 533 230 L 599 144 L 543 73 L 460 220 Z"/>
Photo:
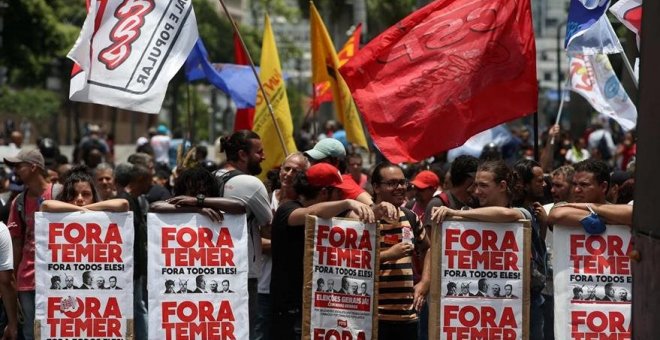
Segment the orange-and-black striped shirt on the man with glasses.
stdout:
<path fill-rule="evenodd" d="M 380 223 L 380 251 L 386 251 L 393 245 L 400 243 L 403 228 L 413 228 L 419 244 L 425 237 L 424 228 L 417 216 L 414 221 L 408 221 L 406 214 L 399 210 L 399 223 Z M 410 210 L 408 210 L 410 211 Z M 413 308 L 414 298 L 412 256 L 405 256 L 398 260 L 384 261 L 380 264 L 378 288 L 378 319 L 382 321 L 408 322 L 417 320 L 417 313 Z"/>

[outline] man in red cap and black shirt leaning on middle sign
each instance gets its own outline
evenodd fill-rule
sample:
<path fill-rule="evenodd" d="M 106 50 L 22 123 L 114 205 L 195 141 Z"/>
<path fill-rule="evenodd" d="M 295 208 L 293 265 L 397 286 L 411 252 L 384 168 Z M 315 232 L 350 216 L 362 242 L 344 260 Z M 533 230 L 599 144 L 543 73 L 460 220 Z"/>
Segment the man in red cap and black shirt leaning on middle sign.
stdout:
<path fill-rule="evenodd" d="M 352 199 L 343 199 L 346 183 L 339 170 L 327 163 L 311 166 L 294 180 L 297 200 L 279 206 L 272 223 L 273 270 L 270 294 L 273 297 L 271 338 L 300 339 L 302 322 L 303 256 L 305 218 L 354 217 L 372 223 L 374 211 Z M 379 214 L 388 209 L 374 208 Z"/>

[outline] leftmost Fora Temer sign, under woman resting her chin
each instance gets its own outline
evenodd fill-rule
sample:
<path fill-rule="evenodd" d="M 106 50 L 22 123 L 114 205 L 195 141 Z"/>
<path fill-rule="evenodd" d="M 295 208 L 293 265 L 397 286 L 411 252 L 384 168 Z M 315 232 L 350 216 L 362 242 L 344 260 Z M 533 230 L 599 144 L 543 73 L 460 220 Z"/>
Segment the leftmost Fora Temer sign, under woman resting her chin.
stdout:
<path fill-rule="evenodd" d="M 133 213 L 35 213 L 35 339 L 133 339 Z"/>

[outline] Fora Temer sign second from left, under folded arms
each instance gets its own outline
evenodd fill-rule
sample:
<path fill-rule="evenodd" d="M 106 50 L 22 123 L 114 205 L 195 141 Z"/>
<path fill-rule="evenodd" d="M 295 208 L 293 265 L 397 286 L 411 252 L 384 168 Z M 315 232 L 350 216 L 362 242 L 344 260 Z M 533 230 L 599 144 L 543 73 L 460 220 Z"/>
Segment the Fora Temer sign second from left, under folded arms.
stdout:
<path fill-rule="evenodd" d="M 149 214 L 149 338 L 248 339 L 245 215 Z"/>

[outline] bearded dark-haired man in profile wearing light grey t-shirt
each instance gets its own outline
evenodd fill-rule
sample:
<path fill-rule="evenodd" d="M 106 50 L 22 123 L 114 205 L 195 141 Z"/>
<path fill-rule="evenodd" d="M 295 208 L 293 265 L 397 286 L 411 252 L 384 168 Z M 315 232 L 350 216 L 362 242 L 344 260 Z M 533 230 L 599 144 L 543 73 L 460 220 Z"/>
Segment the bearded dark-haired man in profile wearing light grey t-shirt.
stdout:
<path fill-rule="evenodd" d="M 250 334 L 255 333 L 257 313 L 257 287 L 261 267 L 260 228 L 270 223 L 268 191 L 263 182 L 255 177 L 261 173 L 260 163 L 266 159 L 259 135 L 250 130 L 239 130 L 231 136 L 222 137 L 220 150 L 227 156 L 227 164 L 215 172 L 220 196 L 241 201 L 247 210 L 248 221 L 248 301 Z M 203 204 L 204 197 L 197 197 Z"/>

